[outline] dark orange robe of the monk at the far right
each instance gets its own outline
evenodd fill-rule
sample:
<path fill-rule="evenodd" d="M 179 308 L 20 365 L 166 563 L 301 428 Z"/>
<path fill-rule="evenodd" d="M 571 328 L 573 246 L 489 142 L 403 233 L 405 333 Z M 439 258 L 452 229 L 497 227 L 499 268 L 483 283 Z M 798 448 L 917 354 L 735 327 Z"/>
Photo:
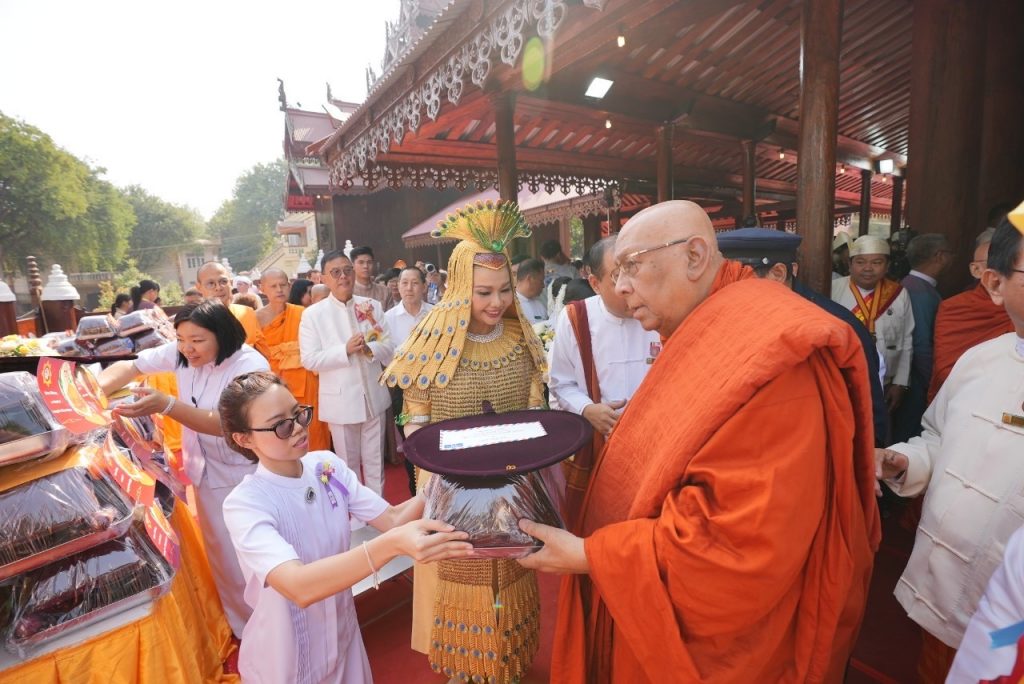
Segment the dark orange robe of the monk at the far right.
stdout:
<path fill-rule="evenodd" d="M 939 393 L 965 351 L 1013 330 L 1014 324 L 1006 309 L 992 301 L 980 283 L 976 288 L 943 300 L 935 316 L 935 352 L 928 402 Z"/>

